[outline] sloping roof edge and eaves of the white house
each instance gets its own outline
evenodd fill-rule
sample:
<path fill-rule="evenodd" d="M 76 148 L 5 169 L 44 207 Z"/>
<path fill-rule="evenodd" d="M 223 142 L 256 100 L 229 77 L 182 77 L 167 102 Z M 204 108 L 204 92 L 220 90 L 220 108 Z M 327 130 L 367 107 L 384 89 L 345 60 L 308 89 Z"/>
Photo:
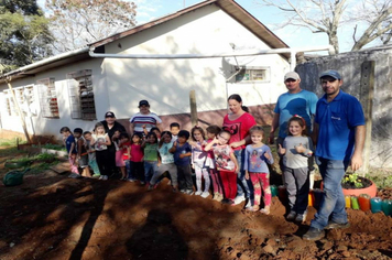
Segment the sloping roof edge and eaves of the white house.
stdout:
<path fill-rule="evenodd" d="M 288 47 L 281 39 L 279 39 L 264 24 L 262 24 L 259 20 L 257 20 L 253 15 L 251 15 L 247 10 L 244 10 L 236 1 L 233 1 L 233 0 L 206 0 L 206 1 L 203 1 L 199 3 L 196 3 L 194 6 L 190 6 L 188 8 L 182 9 L 177 12 L 167 14 L 165 17 L 162 17 L 162 18 L 155 19 L 153 21 L 143 23 L 141 25 L 134 26 L 132 29 L 129 29 L 127 31 L 113 34 L 113 35 L 102 39 L 100 41 L 90 43 L 90 44 L 88 44 L 87 47 L 81 47 L 81 48 L 78 48 L 75 51 L 62 53 L 56 56 L 48 57 L 48 58 L 42 59 L 40 62 L 20 67 L 15 71 L 10 72 L 10 73 L 0 75 L 0 83 L 4 82 L 7 77 L 11 77 L 12 79 L 26 77 L 26 76 L 35 75 L 36 73 L 40 73 L 43 71 L 47 71 L 48 68 L 54 68 L 54 67 L 58 67 L 58 66 L 69 64 L 73 62 L 87 59 L 87 58 L 89 58 L 89 55 L 88 55 L 89 47 L 96 47 L 99 50 L 100 46 L 105 46 L 108 43 L 111 43 L 111 42 L 117 41 L 122 37 L 127 37 L 129 35 L 135 34 L 143 30 L 148 30 L 150 28 L 157 26 L 164 22 L 171 21 L 173 19 L 176 19 L 181 15 L 187 14 L 189 12 L 193 12 L 197 9 L 200 9 L 200 8 L 209 6 L 209 4 L 218 6 L 221 10 L 224 10 L 231 18 L 233 18 L 236 21 L 238 21 L 240 24 L 242 24 L 244 28 L 247 28 L 250 32 L 252 32 L 257 37 L 259 37 L 261 41 L 263 41 L 271 48 Z M 284 56 L 286 58 L 290 57 L 288 54 L 282 54 L 282 56 Z"/>

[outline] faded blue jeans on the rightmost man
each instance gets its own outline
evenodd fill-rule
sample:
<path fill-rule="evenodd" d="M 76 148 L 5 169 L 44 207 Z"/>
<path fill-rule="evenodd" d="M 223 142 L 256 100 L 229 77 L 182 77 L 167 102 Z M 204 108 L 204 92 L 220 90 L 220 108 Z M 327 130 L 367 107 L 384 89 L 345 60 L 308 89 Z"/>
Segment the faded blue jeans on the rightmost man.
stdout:
<path fill-rule="evenodd" d="M 334 223 L 347 223 L 345 195 L 341 180 L 345 176 L 348 162 L 316 158 L 324 183 L 324 201 L 319 206 L 311 227 L 324 229 L 330 219 Z"/>

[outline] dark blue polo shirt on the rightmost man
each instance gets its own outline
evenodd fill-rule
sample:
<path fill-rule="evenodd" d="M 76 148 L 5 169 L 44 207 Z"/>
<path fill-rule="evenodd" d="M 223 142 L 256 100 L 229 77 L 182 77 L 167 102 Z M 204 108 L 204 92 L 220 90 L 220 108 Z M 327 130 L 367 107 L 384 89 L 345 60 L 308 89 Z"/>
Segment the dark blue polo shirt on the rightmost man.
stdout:
<path fill-rule="evenodd" d="M 358 99 L 341 89 L 330 102 L 324 95 L 317 102 L 315 122 L 319 124 L 316 156 L 349 161 L 356 141 L 356 127 L 364 124 Z"/>

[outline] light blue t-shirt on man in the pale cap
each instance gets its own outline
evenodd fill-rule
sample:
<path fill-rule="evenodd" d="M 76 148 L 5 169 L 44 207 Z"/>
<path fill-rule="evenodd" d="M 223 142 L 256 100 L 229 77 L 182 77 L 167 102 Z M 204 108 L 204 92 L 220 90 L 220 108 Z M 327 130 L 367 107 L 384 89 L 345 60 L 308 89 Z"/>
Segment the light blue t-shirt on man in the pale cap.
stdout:
<path fill-rule="evenodd" d="M 302 89 L 300 93 L 282 94 L 276 101 L 275 113 L 280 113 L 279 118 L 279 137 L 287 136 L 287 122 L 294 115 L 303 117 L 306 121 L 307 132 L 312 131 L 312 115 L 316 113 L 317 96 L 314 93 Z"/>

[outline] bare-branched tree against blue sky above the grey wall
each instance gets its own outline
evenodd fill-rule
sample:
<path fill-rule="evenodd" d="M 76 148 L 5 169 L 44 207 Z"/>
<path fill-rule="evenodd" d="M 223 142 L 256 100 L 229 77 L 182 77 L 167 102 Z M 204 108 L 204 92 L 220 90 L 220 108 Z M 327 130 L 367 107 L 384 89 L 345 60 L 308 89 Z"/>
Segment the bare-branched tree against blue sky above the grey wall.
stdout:
<path fill-rule="evenodd" d="M 338 29 L 352 26 L 351 51 L 362 48 L 374 40 L 386 44 L 391 40 L 391 0 L 261 0 L 262 6 L 275 7 L 288 14 L 281 26 L 309 29 L 326 33 L 335 53 L 339 53 Z M 361 35 L 357 40 L 358 29 Z"/>

